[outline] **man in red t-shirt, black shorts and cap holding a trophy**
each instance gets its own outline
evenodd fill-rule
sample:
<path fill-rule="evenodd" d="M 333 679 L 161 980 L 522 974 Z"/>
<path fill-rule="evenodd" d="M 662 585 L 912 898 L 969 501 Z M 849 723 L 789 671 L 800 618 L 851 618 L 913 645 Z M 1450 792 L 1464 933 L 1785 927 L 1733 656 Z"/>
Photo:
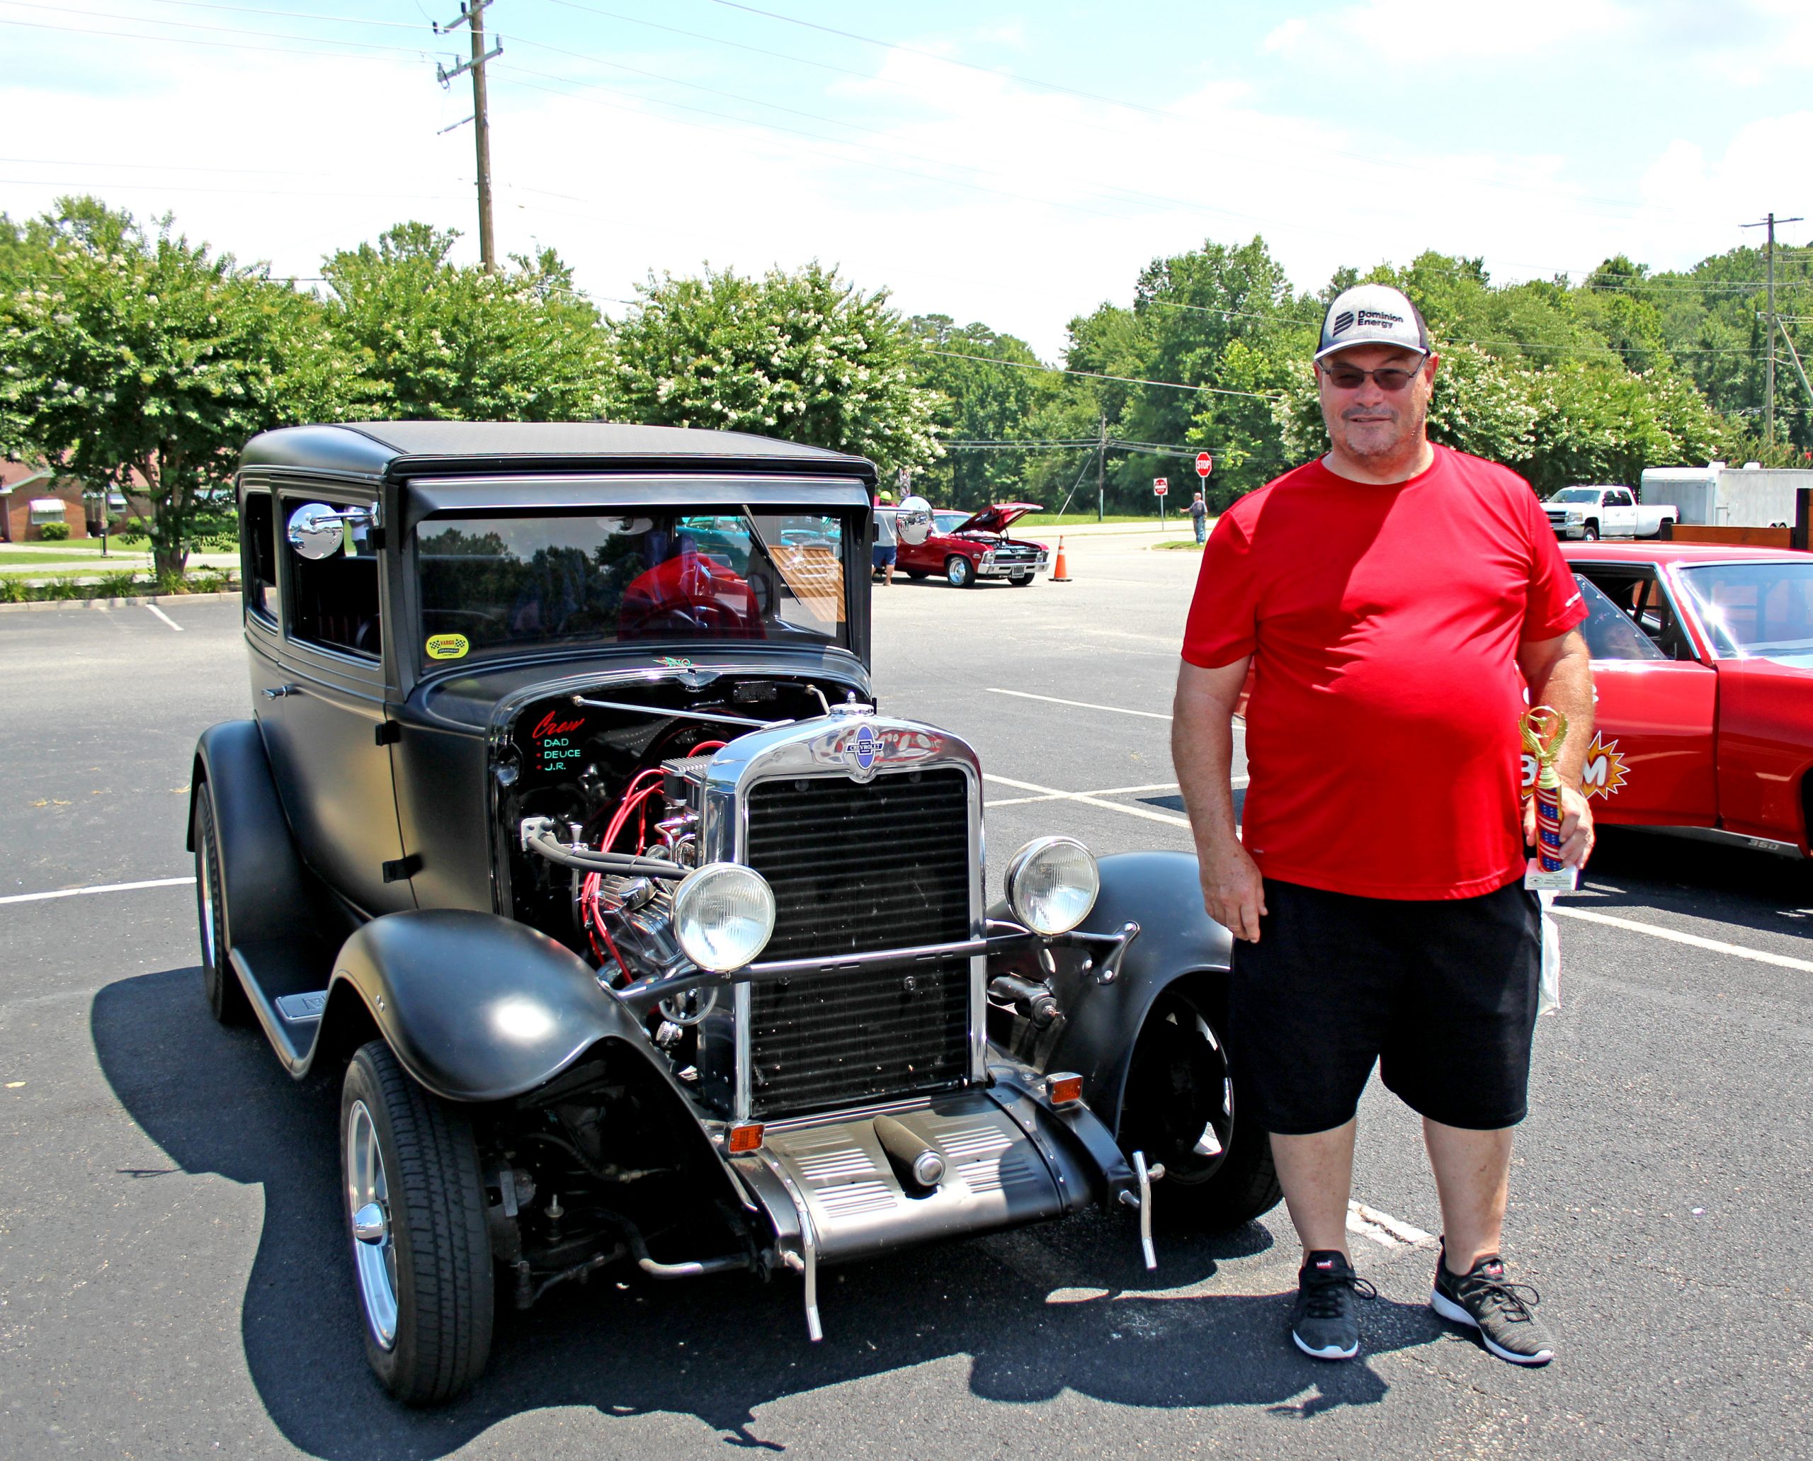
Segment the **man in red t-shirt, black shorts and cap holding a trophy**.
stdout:
<path fill-rule="evenodd" d="M 1585 861 L 1592 674 L 1581 595 L 1516 473 L 1429 442 L 1416 306 L 1360 285 L 1316 350 L 1329 453 L 1235 502 L 1202 555 L 1171 754 L 1209 915 L 1235 935 L 1229 1050 L 1304 1242 L 1291 1336 L 1360 1349 L 1347 1253 L 1354 1111 L 1380 1064 L 1423 1117 L 1445 1225 L 1430 1303 L 1546 1363 L 1499 1258 L 1541 963 L 1517 718 L 1554 705 L 1563 857 Z M 1231 718 L 1247 705 L 1235 827 Z M 1528 700 L 1525 700 L 1528 692 Z M 1244 837 L 1244 841 L 1242 841 Z"/>

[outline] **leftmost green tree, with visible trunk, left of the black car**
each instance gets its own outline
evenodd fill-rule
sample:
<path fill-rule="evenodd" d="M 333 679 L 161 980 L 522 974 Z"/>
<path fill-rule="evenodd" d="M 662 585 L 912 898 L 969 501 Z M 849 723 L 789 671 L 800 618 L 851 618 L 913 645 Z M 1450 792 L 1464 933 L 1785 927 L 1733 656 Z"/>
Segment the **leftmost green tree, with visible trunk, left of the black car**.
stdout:
<path fill-rule="evenodd" d="M 160 576 L 247 437 L 285 421 L 323 346 L 312 299 L 131 214 L 62 199 L 24 230 L 0 292 L 0 450 L 152 504 Z M 332 372 L 317 372 L 323 379 Z"/>

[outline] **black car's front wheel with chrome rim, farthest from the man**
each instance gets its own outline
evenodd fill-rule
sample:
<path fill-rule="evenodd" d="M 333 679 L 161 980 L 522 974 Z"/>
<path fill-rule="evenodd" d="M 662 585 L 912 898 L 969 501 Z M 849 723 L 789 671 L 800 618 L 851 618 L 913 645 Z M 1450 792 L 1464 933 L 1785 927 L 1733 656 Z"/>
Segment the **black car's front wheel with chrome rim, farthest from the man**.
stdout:
<path fill-rule="evenodd" d="M 341 1178 L 372 1370 L 406 1405 L 453 1399 L 491 1352 L 479 1147 L 383 1040 L 346 1068 Z"/>

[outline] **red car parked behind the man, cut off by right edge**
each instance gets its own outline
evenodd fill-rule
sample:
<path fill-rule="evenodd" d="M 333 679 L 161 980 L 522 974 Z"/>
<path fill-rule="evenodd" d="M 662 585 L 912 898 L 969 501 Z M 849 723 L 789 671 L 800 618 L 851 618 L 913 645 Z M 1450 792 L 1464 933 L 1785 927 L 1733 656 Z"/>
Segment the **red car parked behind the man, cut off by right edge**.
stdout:
<path fill-rule="evenodd" d="M 1590 611 L 1594 816 L 1806 856 L 1813 555 L 1686 542 L 1561 553 Z"/>

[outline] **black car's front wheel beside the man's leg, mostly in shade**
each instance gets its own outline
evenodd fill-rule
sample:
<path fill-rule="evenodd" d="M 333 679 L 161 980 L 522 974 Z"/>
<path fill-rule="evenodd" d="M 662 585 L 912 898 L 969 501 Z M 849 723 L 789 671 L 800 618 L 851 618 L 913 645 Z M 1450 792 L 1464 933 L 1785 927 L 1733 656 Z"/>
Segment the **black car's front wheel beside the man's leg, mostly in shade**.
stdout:
<path fill-rule="evenodd" d="M 1224 1028 L 1220 1002 L 1178 982 L 1153 1001 L 1133 1046 L 1120 1147 L 1164 1164 L 1153 1218 L 1173 1231 L 1240 1227 L 1284 1195 L 1271 1138 L 1238 1120 Z"/>

